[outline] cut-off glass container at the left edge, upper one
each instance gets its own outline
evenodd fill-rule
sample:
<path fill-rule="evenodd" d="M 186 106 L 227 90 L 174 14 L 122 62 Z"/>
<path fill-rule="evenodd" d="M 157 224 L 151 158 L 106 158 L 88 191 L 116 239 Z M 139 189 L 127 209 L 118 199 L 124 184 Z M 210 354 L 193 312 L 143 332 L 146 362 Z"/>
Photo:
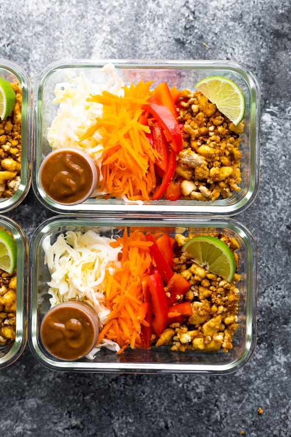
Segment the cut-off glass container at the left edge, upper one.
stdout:
<path fill-rule="evenodd" d="M 10 83 L 19 83 L 22 89 L 22 108 L 21 108 L 21 170 L 20 183 L 16 192 L 7 198 L 0 199 L 0 213 L 10 211 L 23 201 L 27 195 L 31 184 L 31 104 L 32 86 L 30 79 L 22 67 L 14 62 L 0 58 L 0 77 Z M 5 121 L 5 120 L 4 120 Z M 6 135 L 6 132 L 4 132 Z M 2 136 L 2 134 L 1 134 Z M 1 145 L 6 144 L 0 142 Z M 2 146 L 1 146 L 2 147 Z M 5 157 L 13 157 L 8 154 Z M 0 158 L 0 161 L 2 158 Z M 9 169 L 9 168 L 6 168 Z M 12 169 L 14 171 L 14 169 Z"/>

